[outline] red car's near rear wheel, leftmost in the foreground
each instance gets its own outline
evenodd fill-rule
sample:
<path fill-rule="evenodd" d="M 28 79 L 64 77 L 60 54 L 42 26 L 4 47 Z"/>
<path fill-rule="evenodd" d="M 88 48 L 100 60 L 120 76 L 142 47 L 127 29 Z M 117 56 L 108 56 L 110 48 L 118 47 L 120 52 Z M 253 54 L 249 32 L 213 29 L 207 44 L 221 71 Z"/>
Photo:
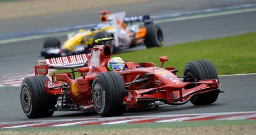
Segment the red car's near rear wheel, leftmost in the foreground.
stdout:
<path fill-rule="evenodd" d="M 22 81 L 20 102 L 25 115 L 30 118 L 50 117 L 53 115 L 57 96 L 47 94 L 44 89 L 44 81 L 50 81 L 48 77 L 39 75 L 25 78 Z"/>

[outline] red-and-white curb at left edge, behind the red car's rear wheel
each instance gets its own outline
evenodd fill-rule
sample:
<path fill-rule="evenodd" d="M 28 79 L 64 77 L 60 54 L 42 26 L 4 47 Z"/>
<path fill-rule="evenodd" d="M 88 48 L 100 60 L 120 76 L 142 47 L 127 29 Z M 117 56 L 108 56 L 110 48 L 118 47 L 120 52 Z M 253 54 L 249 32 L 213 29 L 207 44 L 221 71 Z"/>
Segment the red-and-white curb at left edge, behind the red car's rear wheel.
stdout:
<path fill-rule="evenodd" d="M 0 87 L 4 87 L 4 86 L 20 87 L 23 79 L 27 77 L 32 77 L 32 76 L 34 76 L 34 71 L 15 73 L 15 74 L 2 76 L 0 77 Z M 50 78 L 49 75 L 47 75 L 47 77 Z"/>

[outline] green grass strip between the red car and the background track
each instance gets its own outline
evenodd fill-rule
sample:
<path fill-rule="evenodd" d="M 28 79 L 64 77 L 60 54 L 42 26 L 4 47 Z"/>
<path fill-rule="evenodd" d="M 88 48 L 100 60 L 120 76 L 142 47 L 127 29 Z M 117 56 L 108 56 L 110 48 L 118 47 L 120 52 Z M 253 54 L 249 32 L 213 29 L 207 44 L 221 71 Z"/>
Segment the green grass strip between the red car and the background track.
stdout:
<path fill-rule="evenodd" d="M 168 61 L 164 67 L 176 67 L 178 75 L 182 75 L 187 63 L 200 59 L 210 60 L 219 75 L 254 73 L 256 32 L 114 54 L 113 57 L 115 56 L 135 63 L 153 62 L 157 66 L 160 66 L 159 57 L 167 56 Z"/>

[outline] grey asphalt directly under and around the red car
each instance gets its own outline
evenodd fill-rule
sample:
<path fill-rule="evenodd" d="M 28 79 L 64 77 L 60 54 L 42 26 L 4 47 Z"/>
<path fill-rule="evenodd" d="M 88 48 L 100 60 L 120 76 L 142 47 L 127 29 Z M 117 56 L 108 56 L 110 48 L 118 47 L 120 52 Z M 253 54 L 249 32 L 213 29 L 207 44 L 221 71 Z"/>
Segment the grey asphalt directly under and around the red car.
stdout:
<path fill-rule="evenodd" d="M 253 75 L 219 77 L 221 90 L 217 101 L 211 105 L 193 106 L 188 102 L 181 106 L 162 105 L 126 112 L 123 116 L 179 115 L 191 113 L 247 112 L 256 110 L 255 78 Z M 85 119 L 100 117 L 88 112 L 54 112 L 53 117 L 28 119 L 19 101 L 19 88 L 0 88 L 0 122 L 19 122 L 28 120 Z"/>

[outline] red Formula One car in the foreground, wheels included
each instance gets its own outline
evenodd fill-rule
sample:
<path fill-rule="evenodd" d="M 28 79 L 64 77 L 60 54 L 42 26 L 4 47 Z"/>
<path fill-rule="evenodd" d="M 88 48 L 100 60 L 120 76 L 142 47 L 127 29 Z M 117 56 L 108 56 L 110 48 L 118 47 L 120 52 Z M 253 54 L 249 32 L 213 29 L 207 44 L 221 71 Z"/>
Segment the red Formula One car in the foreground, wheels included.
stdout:
<path fill-rule="evenodd" d="M 20 101 L 29 118 L 49 117 L 54 111 L 96 111 L 100 116 L 120 116 L 125 110 L 146 106 L 208 105 L 216 101 L 219 79 L 212 63 L 198 60 L 188 63 L 184 76 L 174 67 L 162 68 L 167 57 L 160 57 L 161 67 L 154 63 L 123 63 L 122 70 L 108 71 L 112 50 L 106 41 L 91 48 L 90 54 L 38 61 L 35 76 L 23 79 Z M 77 68 L 74 72 L 46 77 L 49 68 Z M 184 81 L 181 81 L 183 78 Z"/>

